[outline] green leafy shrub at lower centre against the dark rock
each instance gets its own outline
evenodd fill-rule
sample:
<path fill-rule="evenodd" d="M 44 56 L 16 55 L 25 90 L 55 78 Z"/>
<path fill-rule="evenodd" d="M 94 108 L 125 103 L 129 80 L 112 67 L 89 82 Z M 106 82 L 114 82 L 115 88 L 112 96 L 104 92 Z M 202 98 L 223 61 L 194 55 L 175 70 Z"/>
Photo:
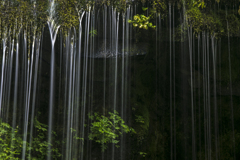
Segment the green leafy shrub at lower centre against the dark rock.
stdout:
<path fill-rule="evenodd" d="M 133 128 L 128 127 L 123 119 L 118 115 L 117 111 L 108 112 L 108 117 L 94 113 L 89 114 L 91 123 L 89 139 L 101 144 L 102 152 L 107 149 L 105 144 L 113 143 L 119 147 L 119 137 L 123 133 L 135 133 Z"/>

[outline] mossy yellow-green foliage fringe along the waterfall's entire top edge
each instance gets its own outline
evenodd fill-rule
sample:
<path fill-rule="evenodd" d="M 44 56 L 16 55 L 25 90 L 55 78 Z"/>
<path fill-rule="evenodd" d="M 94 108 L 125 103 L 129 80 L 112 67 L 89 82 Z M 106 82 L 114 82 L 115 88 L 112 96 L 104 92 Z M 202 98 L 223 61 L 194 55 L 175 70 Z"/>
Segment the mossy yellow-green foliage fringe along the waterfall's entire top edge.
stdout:
<path fill-rule="evenodd" d="M 167 3 L 171 3 L 173 8 L 177 4 L 178 9 L 185 7 L 186 18 L 188 26 L 192 26 L 195 33 L 201 31 L 210 31 L 215 37 L 226 36 L 228 31 L 230 36 L 239 36 L 239 9 L 229 10 L 226 14 L 225 10 L 218 9 L 213 12 L 213 3 L 217 2 L 219 5 L 225 4 L 232 6 L 236 4 L 234 1 L 227 0 L 180 0 L 180 1 L 166 1 L 166 0 L 139 0 L 142 3 L 148 3 L 149 8 L 143 7 L 143 11 L 149 9 L 150 15 L 147 17 L 144 14 L 137 14 L 133 20 L 129 20 L 133 26 L 138 28 L 155 28 L 150 22 L 154 16 L 161 14 L 164 18 L 168 13 Z M 137 2 L 137 0 L 135 0 Z M 95 6 L 109 5 L 117 10 L 119 13 L 125 13 L 126 7 L 133 2 L 126 0 L 55 0 L 55 21 L 61 26 L 63 33 L 67 34 L 71 27 L 78 27 L 79 16 L 83 11 L 90 11 Z M 28 42 L 32 41 L 32 35 L 41 34 L 42 28 L 46 25 L 50 12 L 48 0 L 39 1 L 1 1 L 0 4 L 0 39 L 7 36 L 16 37 L 16 33 L 20 29 L 24 29 L 28 36 Z M 226 22 L 229 23 L 227 29 Z M 179 29 L 180 30 L 180 29 Z M 182 30 L 184 32 L 184 30 Z M 10 35 L 7 35 L 9 33 Z M 96 35 L 96 34 L 93 34 Z M 28 52 L 30 52 L 28 46 Z"/>

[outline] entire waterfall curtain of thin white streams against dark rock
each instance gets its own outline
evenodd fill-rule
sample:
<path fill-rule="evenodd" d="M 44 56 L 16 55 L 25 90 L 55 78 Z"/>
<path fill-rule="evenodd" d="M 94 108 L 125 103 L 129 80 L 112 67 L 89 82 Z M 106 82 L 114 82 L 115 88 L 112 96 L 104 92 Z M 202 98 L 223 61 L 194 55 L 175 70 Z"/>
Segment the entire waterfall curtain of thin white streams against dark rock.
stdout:
<path fill-rule="evenodd" d="M 50 2 L 54 3 L 54 1 Z M 130 119 L 127 116 L 129 114 L 128 112 L 130 112 L 128 106 L 131 104 L 129 100 L 129 88 L 132 85 L 129 83 L 131 77 L 129 75 L 131 74 L 131 69 L 135 73 L 138 71 L 136 65 L 133 68 L 129 67 L 131 64 L 129 52 L 131 51 L 130 48 L 133 43 L 133 35 L 137 31 L 135 30 L 133 33 L 132 25 L 129 24 L 127 20 L 132 19 L 133 15 L 136 14 L 137 6 L 127 7 L 126 13 L 119 13 L 113 6 L 107 7 L 105 5 L 102 9 L 103 10 L 92 10 L 89 8 L 85 17 L 85 12 L 81 11 L 79 14 L 79 31 L 77 32 L 76 28 L 72 27 L 69 28 L 66 35 L 60 34 L 59 80 L 55 78 L 55 74 L 57 75 L 56 71 L 58 71 L 58 68 L 55 66 L 58 61 L 55 59 L 54 48 L 56 46 L 55 42 L 59 26 L 57 26 L 53 20 L 53 13 L 50 15 L 52 19 L 50 18 L 48 20 L 51 38 L 51 74 L 49 78 L 50 100 L 47 138 L 48 143 L 52 143 L 54 106 L 58 106 L 58 108 L 60 108 L 58 114 L 63 115 L 63 118 L 58 115 L 58 120 L 63 126 L 62 130 L 60 130 L 60 134 L 61 138 L 65 141 L 65 143 L 61 144 L 63 152 L 62 159 L 93 159 L 95 149 L 93 146 L 95 142 L 90 141 L 87 137 L 91 132 L 90 127 L 92 124 L 92 121 L 86 117 L 87 113 L 100 111 L 103 115 L 107 116 L 106 113 L 108 111 L 117 110 L 124 121 Z M 159 98 L 162 94 L 161 92 L 164 92 L 163 94 L 167 93 L 165 96 L 169 100 L 169 109 L 167 110 L 168 119 L 162 122 L 162 124 L 170 124 L 168 129 L 168 156 L 170 159 L 177 159 L 177 153 L 179 152 L 177 151 L 179 144 L 177 141 L 177 131 L 180 130 L 183 131 L 182 134 L 186 135 L 183 139 L 183 143 L 180 145 L 183 148 L 182 150 L 184 151 L 183 154 L 185 158 L 197 159 L 199 154 L 199 159 L 220 159 L 222 153 L 220 153 L 221 124 L 219 124 L 219 119 L 222 113 L 218 94 L 220 94 L 221 99 L 222 92 L 220 79 L 221 71 L 218 70 L 218 64 L 221 63 L 221 41 L 218 41 L 214 34 L 210 34 L 210 31 L 203 31 L 201 34 L 198 34 L 196 38 L 193 27 L 191 25 L 188 26 L 189 24 L 185 22 L 185 16 L 181 16 L 180 21 L 183 23 L 182 29 L 187 29 L 187 37 L 182 34 L 181 38 L 187 38 L 187 41 L 182 43 L 175 42 L 175 10 L 174 4 L 169 3 L 169 17 L 166 23 L 167 26 L 169 26 L 169 30 L 166 32 L 166 35 L 169 37 L 169 41 L 167 42 L 160 40 L 162 38 L 161 36 L 165 35 L 165 33 L 163 33 L 165 26 L 161 24 L 161 16 L 156 15 L 155 94 L 157 97 L 157 106 L 160 106 L 161 103 L 161 98 Z M 52 10 L 51 12 L 54 11 Z M 181 14 L 185 15 L 184 8 Z M 85 26 L 82 26 L 83 19 Z M 233 131 L 232 147 L 234 148 L 233 154 L 235 156 L 234 97 L 232 97 L 233 84 L 231 62 L 232 49 L 229 35 L 229 22 L 227 21 L 226 23 L 228 29 L 227 49 L 229 97 L 231 106 L 229 110 L 231 111 L 230 118 Z M 99 33 L 102 33 L 102 37 L 97 35 L 99 37 L 96 38 L 91 35 L 94 34 L 93 31 L 95 27 L 97 27 Z M 84 40 L 82 40 L 82 30 L 84 31 Z M 35 33 L 30 43 L 29 33 L 33 34 L 34 30 L 30 31 L 29 28 L 25 28 L 20 34 L 19 32 L 15 33 L 14 30 L 5 29 L 3 33 L 5 35 L 2 40 L 3 55 L 0 82 L 0 116 L 6 122 L 12 123 L 13 128 L 17 128 L 19 123 L 24 122 L 21 124 L 23 125 L 23 130 L 21 131 L 23 133 L 23 140 L 29 142 L 29 147 L 33 147 L 34 115 L 37 104 L 37 88 L 39 87 L 38 84 L 40 81 L 39 70 L 42 68 L 40 48 L 43 38 L 41 38 L 40 34 Z M 11 35 L 16 35 L 16 38 L 11 37 Z M 97 54 L 95 45 L 100 46 L 99 44 L 101 42 L 103 42 L 104 54 L 101 58 L 97 59 L 95 57 Z M 166 49 L 164 48 L 164 43 L 167 44 L 165 47 Z M 180 55 L 177 54 L 178 51 L 175 51 L 175 45 L 178 44 L 181 45 L 181 51 L 179 51 L 181 52 Z M 20 46 L 22 46 L 22 48 Z M 164 49 L 168 53 L 167 56 L 162 54 Z M 20 56 L 22 57 L 20 58 Z M 164 56 L 167 59 L 168 66 L 164 69 L 160 69 Z M 178 57 L 181 58 L 178 60 Z M 137 61 L 138 59 L 134 58 L 134 62 Z M 178 62 L 182 70 L 189 71 L 186 75 L 183 76 L 182 73 L 179 73 L 181 69 L 178 70 L 177 68 L 179 65 Z M 97 76 L 98 71 L 102 74 L 100 83 L 96 82 L 101 79 Z M 162 80 L 162 71 L 169 71 L 167 74 L 167 80 L 169 80 L 169 82 Z M 179 74 L 181 75 L 179 76 Z M 179 80 L 178 78 L 181 79 Z M 59 82 L 58 90 L 55 90 L 54 87 L 55 80 Z M 162 88 L 160 88 L 161 83 L 169 84 L 169 86 L 166 87 L 169 88 L 169 90 L 162 91 Z M 137 86 L 137 84 L 134 85 Z M 102 90 L 96 91 L 96 88 L 99 86 Z M 56 91 L 59 92 L 58 105 L 54 103 L 56 101 Z M 101 92 L 103 95 L 97 97 L 98 94 L 94 92 Z M 182 96 L 179 98 L 181 100 L 179 100 L 176 98 L 177 94 L 182 94 L 187 98 Z M 12 110 L 8 107 L 11 105 L 11 95 L 13 95 Z M 99 101 L 101 104 L 98 104 Z M 178 109 L 178 103 L 183 105 L 181 109 Z M 93 107 L 95 105 L 99 106 L 100 109 Z M 178 111 L 182 114 L 180 126 L 178 126 L 179 123 L 177 122 L 178 118 L 180 118 L 177 114 Z M 163 112 L 163 115 L 165 113 L 166 112 Z M 12 121 L 9 120 L 11 118 Z M 86 123 L 87 127 L 85 127 Z M 14 137 L 14 134 L 12 137 Z M 84 140 L 77 141 L 75 137 L 84 138 Z M 158 139 L 158 137 L 156 139 Z M 121 160 L 126 159 L 127 141 L 126 135 L 123 134 L 120 137 L 120 149 L 117 150 L 114 144 L 111 144 L 109 145 L 110 153 L 102 153 L 101 158 L 110 158 L 114 160 L 118 157 Z M 85 142 L 85 144 L 83 144 L 83 142 Z M 13 140 L 11 146 L 14 146 Z M 32 151 L 29 150 L 27 153 L 27 147 L 27 143 L 23 143 L 22 159 L 25 159 L 27 154 L 32 158 Z M 47 158 L 52 159 L 50 145 L 48 152 Z M 191 154 L 188 155 L 188 153 Z"/>

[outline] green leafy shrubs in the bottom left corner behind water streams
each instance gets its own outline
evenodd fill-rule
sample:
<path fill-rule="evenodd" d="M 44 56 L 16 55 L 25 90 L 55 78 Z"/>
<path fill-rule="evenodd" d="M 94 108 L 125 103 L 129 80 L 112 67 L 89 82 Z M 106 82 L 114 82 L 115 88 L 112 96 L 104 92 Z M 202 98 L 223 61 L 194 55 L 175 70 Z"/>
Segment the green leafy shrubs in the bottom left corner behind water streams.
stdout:
<path fill-rule="evenodd" d="M 22 151 L 23 143 L 26 143 L 27 159 L 45 159 L 48 154 L 48 146 L 53 146 L 47 142 L 47 125 L 40 123 L 37 118 L 34 120 L 34 128 L 37 136 L 32 137 L 32 143 L 23 141 L 19 129 L 12 128 L 9 124 L 0 121 L 0 159 L 17 160 Z M 56 138 L 56 132 L 52 132 L 53 138 Z M 59 141 L 54 141 L 59 143 Z M 29 151 L 31 155 L 29 155 Z M 61 157 L 58 148 L 52 148 L 52 158 Z"/>

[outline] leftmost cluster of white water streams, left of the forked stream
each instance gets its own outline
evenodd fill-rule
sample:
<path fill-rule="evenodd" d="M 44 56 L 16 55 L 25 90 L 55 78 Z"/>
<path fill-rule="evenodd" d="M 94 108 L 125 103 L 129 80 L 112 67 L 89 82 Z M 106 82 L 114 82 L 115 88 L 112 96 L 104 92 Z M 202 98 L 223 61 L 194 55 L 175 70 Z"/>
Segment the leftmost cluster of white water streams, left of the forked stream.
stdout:
<path fill-rule="evenodd" d="M 22 34 L 21 34 L 22 33 Z M 5 33 L 4 33 L 5 34 Z M 25 29 L 23 32 L 21 32 L 21 29 L 17 32 L 15 32 L 15 29 L 13 32 L 9 30 L 8 34 L 6 32 L 5 36 L 6 38 L 3 38 L 3 62 L 2 62 L 2 77 L 1 77 L 1 106 L 4 106 L 0 110 L 4 112 L 3 115 L 1 115 L 1 119 L 5 121 L 6 123 L 12 124 L 12 134 L 11 134 L 11 141 L 10 146 L 11 150 L 14 150 L 15 146 L 15 134 L 16 132 L 14 129 L 18 128 L 20 123 L 22 121 L 17 121 L 17 118 L 19 120 L 23 119 L 23 146 L 22 146 L 22 159 L 26 156 L 26 148 L 27 148 L 27 133 L 28 133 L 28 122 L 29 122 L 29 110 L 30 106 L 35 105 L 35 95 L 36 95 L 36 80 L 37 77 L 34 78 L 34 88 L 32 89 L 32 74 L 33 74 L 33 64 L 34 64 L 34 52 L 35 52 L 35 38 L 33 37 L 33 43 L 32 43 L 32 54 L 31 59 L 27 58 L 27 29 Z M 11 38 L 11 36 L 13 38 Z M 20 45 L 20 37 L 23 37 L 23 59 L 22 59 L 22 68 L 20 67 L 19 63 L 19 45 Z M 9 38 L 9 39 L 7 39 Z M 8 40 L 8 41 L 7 41 Z M 15 42 L 16 40 L 16 42 Z M 39 41 L 40 43 L 40 41 Z M 39 43 L 37 46 L 39 46 Z M 37 47 L 39 48 L 39 47 Z M 37 51 L 39 53 L 39 51 Z M 15 60 L 14 60 L 15 58 Z M 28 60 L 27 60 L 28 59 Z M 37 60 L 36 60 L 37 62 Z M 27 65 L 28 64 L 28 65 Z M 14 66 L 15 65 L 15 66 Z M 38 66 L 38 63 L 35 63 L 35 66 Z M 22 69 L 22 70 L 21 70 Z M 13 73 L 14 71 L 14 73 Z M 20 74 L 22 75 L 21 79 Z M 37 71 L 35 71 L 35 75 L 37 74 Z M 14 78 L 12 78 L 12 75 L 14 75 Z M 20 81 L 19 81 L 20 80 Z M 19 91 L 19 83 L 22 84 L 21 90 Z M 11 93 L 13 91 L 13 93 Z M 33 91 L 33 92 L 31 92 Z M 19 93 L 21 95 L 19 96 Z M 13 103 L 11 103 L 11 95 L 13 95 Z M 26 99 L 21 99 L 20 102 L 18 102 L 19 98 L 23 97 L 25 95 Z M 30 105 L 32 99 L 32 105 Z M 11 107 L 12 104 L 12 107 Z M 21 106 L 24 108 L 24 110 L 21 110 Z M 21 113 L 22 111 L 22 113 Z M 11 112 L 11 113 L 10 113 Z M 33 111 L 34 113 L 34 111 Z M 33 118 L 32 113 L 32 118 Z M 23 117 L 22 117 L 23 115 Z M 9 117 L 8 117 L 9 116 Z M 11 120 L 10 120 L 11 119 Z M 30 121 L 31 126 L 33 126 L 33 120 Z M 31 137 L 32 137 L 32 127 L 30 131 L 30 146 L 31 146 Z M 29 151 L 29 155 L 31 152 Z M 11 156 L 13 156 L 13 152 L 11 153 Z M 31 155 L 30 155 L 31 156 Z"/>

